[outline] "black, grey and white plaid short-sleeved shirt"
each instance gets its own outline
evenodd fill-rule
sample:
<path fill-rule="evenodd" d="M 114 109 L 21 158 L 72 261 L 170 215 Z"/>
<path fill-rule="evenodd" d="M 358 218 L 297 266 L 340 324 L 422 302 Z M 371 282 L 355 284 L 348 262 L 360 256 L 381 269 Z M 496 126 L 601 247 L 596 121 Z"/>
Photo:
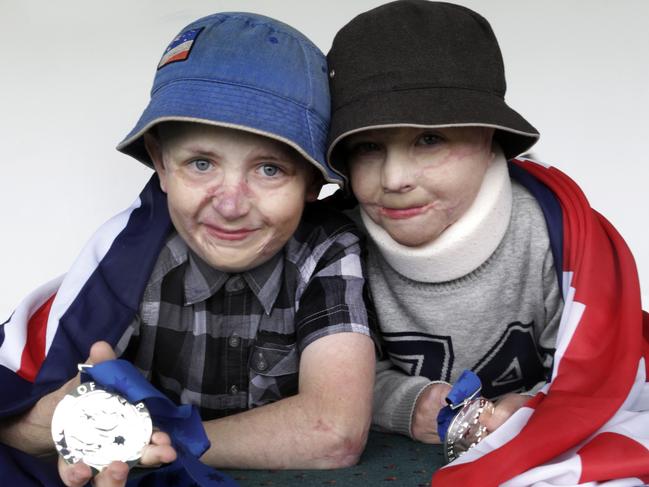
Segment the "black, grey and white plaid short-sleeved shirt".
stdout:
<path fill-rule="evenodd" d="M 356 228 L 317 204 L 282 252 L 242 273 L 210 267 L 173 233 L 117 350 L 203 419 L 227 416 L 296 394 L 314 340 L 373 336 L 363 286 Z"/>

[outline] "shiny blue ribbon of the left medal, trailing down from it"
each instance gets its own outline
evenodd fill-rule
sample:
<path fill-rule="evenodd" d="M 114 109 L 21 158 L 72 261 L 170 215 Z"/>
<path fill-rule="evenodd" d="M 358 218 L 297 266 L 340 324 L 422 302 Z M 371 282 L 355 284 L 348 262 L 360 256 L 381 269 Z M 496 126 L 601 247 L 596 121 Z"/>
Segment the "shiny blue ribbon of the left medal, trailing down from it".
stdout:
<path fill-rule="evenodd" d="M 81 380 L 94 380 L 104 388 L 117 392 L 132 403 L 144 401 L 153 424 L 171 437 L 177 458 L 173 463 L 152 469 L 134 479 L 135 485 L 196 485 L 200 487 L 235 487 L 229 476 L 201 463 L 199 457 L 210 447 L 203 423 L 194 406 L 176 406 L 167 396 L 153 387 L 126 360 L 107 360 L 83 367 Z"/>

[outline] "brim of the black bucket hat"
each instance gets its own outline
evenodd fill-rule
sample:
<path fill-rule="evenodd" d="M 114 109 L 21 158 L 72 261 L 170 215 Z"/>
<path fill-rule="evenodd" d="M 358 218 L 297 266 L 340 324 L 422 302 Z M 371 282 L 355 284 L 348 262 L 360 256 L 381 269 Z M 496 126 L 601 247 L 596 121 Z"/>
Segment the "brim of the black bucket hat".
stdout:
<path fill-rule="evenodd" d="M 327 151 L 330 165 L 343 169 L 334 152 L 348 135 L 394 126 L 492 127 L 507 159 L 529 150 L 539 139 L 538 131 L 497 95 L 458 88 L 402 89 L 334 107 Z"/>

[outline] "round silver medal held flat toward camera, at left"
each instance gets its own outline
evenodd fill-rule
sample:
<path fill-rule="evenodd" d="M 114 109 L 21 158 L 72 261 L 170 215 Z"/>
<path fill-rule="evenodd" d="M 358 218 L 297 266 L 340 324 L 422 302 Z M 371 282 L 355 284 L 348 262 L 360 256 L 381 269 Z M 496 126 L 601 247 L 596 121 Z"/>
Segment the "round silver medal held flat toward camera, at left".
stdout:
<path fill-rule="evenodd" d="M 96 472 L 119 460 L 136 464 L 152 433 L 143 402 L 132 404 L 95 382 L 84 382 L 56 406 L 52 438 L 67 463 L 81 460 Z"/>

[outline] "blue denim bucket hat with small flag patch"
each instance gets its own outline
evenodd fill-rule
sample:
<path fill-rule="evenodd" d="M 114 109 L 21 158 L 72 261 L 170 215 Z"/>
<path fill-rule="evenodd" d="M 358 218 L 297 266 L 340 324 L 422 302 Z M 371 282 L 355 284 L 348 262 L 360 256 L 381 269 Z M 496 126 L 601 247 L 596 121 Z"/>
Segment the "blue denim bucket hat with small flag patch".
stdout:
<path fill-rule="evenodd" d="M 192 22 L 162 55 L 151 100 L 117 150 L 153 166 L 143 134 L 164 121 L 199 122 L 284 142 L 328 182 L 329 86 L 324 54 L 294 28 L 225 12 Z"/>

